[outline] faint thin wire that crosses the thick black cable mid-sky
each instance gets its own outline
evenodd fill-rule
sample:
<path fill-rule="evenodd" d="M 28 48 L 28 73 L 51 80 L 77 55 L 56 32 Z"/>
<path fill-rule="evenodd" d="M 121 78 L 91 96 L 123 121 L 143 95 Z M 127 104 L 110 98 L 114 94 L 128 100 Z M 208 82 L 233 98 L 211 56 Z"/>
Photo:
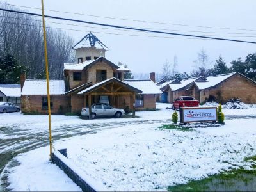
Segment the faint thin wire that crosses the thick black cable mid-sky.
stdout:
<path fill-rule="evenodd" d="M 17 13 L 13 13 L 17 14 Z M 35 16 L 35 15 L 33 15 Z M 8 18 L 13 18 L 13 19 L 22 19 L 22 20 L 33 20 L 33 21 L 39 21 L 35 19 L 25 19 L 25 18 L 17 18 L 17 17 L 10 17 L 10 16 L 3 16 L 0 15 L 0 17 L 8 17 Z M 66 23 L 61 23 L 61 22 L 51 22 L 47 21 L 47 23 L 52 23 L 52 24 L 63 24 L 63 25 L 68 25 L 68 26 L 79 26 L 79 27 L 85 27 L 85 28 L 97 28 L 97 29 L 109 29 L 109 28 L 99 28 L 99 27 L 92 27 L 92 26 L 82 26 L 82 25 L 77 25 L 77 24 L 66 24 Z M 156 29 L 158 30 L 159 28 L 142 28 L 142 29 Z M 111 29 L 111 30 L 117 30 L 117 31 L 133 31 L 133 30 L 127 30 L 127 29 Z M 164 31 L 182 31 L 182 32 L 192 32 L 192 33 L 217 33 L 217 34 L 230 34 L 230 35 L 256 35 L 256 33 L 225 33 L 225 32 L 211 32 L 211 31 L 185 31 L 185 30 L 175 30 L 175 29 L 159 29 L 159 30 L 164 30 Z M 144 32 L 144 31 L 139 31 L 139 32 Z M 216 36 L 216 35 L 211 35 L 211 36 Z M 223 36 L 223 35 L 220 35 Z M 255 37 L 255 36 L 230 36 L 230 37 Z"/>

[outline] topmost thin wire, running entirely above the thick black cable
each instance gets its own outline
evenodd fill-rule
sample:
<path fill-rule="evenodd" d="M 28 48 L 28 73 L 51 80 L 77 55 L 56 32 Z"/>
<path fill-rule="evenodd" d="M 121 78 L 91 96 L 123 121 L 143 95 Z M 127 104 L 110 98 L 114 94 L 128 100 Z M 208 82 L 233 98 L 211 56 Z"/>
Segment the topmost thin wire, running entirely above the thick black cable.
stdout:
<path fill-rule="evenodd" d="M 4 3 L 0 3 L 0 4 L 4 4 Z M 29 6 L 21 6 L 21 5 L 13 5 L 13 4 L 4 4 L 4 5 L 40 10 L 40 8 L 29 7 Z M 45 10 L 47 10 L 47 9 L 45 9 Z M 89 16 L 89 17 L 99 17 L 99 18 L 104 18 L 104 19 L 127 20 L 127 21 L 133 21 L 133 22 L 145 22 L 145 23 L 152 23 L 152 24 L 166 24 L 166 25 L 173 25 L 173 26 L 187 26 L 187 27 L 196 27 L 196 28 L 229 29 L 229 30 L 238 30 L 238 31 L 256 31 L 255 29 L 221 28 L 221 27 L 212 27 L 212 26 L 196 26 L 196 25 L 188 25 L 188 24 L 173 24 L 173 23 L 168 23 L 168 22 L 153 22 L 153 21 L 148 21 L 148 20 L 133 20 L 133 19 L 118 18 L 118 17 L 88 15 L 88 14 L 84 14 L 84 13 L 63 12 L 63 11 L 58 11 L 58 10 L 47 10 L 47 11 L 49 11 L 49 12 L 59 12 L 59 13 L 69 13 L 69 14 L 74 14 L 74 15 L 84 15 L 84 16 Z"/>

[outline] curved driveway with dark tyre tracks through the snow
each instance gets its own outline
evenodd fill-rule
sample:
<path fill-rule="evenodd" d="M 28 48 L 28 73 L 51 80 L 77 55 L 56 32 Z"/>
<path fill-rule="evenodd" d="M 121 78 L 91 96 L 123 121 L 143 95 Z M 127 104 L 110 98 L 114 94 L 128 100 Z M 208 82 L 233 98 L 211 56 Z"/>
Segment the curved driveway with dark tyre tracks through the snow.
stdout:
<path fill-rule="evenodd" d="M 232 118 L 256 118 L 256 115 L 227 115 L 225 119 Z M 52 135 L 54 140 L 59 140 L 61 138 L 69 138 L 72 136 L 79 136 L 83 134 L 97 133 L 103 129 L 113 129 L 117 127 L 122 127 L 125 125 L 138 125 L 138 124 L 168 124 L 170 120 L 127 120 L 124 119 L 123 122 L 106 122 L 101 124 L 75 124 L 75 125 L 60 125 L 60 127 L 54 127 Z M 12 135 L 12 138 L 0 139 L 0 173 L 1 173 L 1 183 L 0 190 L 7 191 L 8 186 L 8 167 L 17 166 L 17 162 L 13 160 L 13 157 L 20 153 L 28 152 L 35 148 L 43 147 L 49 144 L 48 131 L 31 132 L 28 129 L 20 129 L 20 125 L 10 124 L 1 127 L 0 131 L 3 135 Z"/>

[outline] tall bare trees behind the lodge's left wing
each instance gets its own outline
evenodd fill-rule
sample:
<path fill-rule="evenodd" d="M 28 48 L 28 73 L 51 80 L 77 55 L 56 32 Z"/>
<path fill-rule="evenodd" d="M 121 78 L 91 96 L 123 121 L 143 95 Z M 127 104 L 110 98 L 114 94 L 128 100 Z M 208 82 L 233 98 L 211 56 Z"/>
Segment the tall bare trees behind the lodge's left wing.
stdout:
<path fill-rule="evenodd" d="M 74 40 L 61 30 L 46 28 L 46 33 L 50 79 L 61 79 L 63 63 L 74 61 Z M 29 79 L 45 79 L 42 21 L 0 11 L 0 83 L 20 83 L 20 71 L 26 71 Z"/>

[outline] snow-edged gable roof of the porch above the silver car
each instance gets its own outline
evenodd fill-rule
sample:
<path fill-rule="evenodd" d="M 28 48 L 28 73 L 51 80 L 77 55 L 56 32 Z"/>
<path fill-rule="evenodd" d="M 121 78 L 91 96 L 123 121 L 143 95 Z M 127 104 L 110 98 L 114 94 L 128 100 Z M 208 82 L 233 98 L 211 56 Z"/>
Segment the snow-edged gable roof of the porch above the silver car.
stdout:
<path fill-rule="evenodd" d="M 100 88 L 100 86 L 104 86 L 104 85 L 112 83 L 112 82 L 117 82 L 117 83 L 120 83 L 120 84 L 122 84 L 124 86 L 127 86 L 128 88 L 130 88 L 134 92 L 137 92 L 137 93 L 141 93 L 142 92 L 138 88 L 135 88 L 135 87 L 133 87 L 133 86 L 127 84 L 127 83 L 124 83 L 123 81 L 120 81 L 119 79 L 116 79 L 115 77 L 112 77 L 110 79 L 106 79 L 106 80 L 101 81 L 99 83 L 93 84 L 93 86 L 90 86 L 90 87 L 86 88 L 85 90 L 83 90 L 81 92 L 78 92 L 77 94 L 83 94 L 83 93 L 92 92 L 93 90 L 96 90 L 97 88 Z"/>

